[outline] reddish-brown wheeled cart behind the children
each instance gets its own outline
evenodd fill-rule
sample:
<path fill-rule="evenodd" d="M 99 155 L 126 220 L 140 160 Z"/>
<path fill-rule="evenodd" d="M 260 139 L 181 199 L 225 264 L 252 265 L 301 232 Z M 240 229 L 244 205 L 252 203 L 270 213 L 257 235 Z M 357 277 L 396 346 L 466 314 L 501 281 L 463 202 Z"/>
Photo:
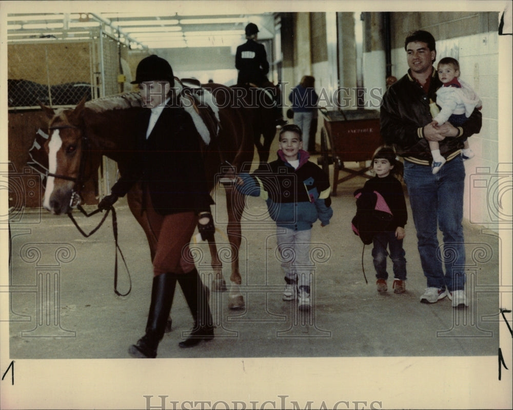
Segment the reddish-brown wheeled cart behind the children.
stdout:
<path fill-rule="evenodd" d="M 365 162 L 372 159 L 372 154 L 383 139 L 380 134 L 379 110 L 332 110 L 320 108 L 324 119 L 321 130 L 321 156 L 317 163 L 329 175 L 329 165 L 333 164 L 332 195 L 337 195 L 337 185 L 358 175 L 367 175 Z M 344 162 L 358 162 L 360 169 L 346 168 Z M 339 172 L 348 172 L 339 179 Z"/>

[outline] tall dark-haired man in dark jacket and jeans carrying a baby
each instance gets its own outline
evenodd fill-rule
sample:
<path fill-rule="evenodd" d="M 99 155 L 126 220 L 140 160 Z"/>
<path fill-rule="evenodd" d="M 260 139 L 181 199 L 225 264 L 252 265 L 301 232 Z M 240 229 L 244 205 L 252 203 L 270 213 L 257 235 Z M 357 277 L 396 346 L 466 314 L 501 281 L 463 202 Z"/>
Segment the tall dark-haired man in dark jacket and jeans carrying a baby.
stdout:
<path fill-rule="evenodd" d="M 462 226 L 465 168 L 460 152 L 463 141 L 480 131 L 482 116 L 475 109 L 459 127 L 449 122 L 432 127 L 429 103 L 436 102 L 436 91 L 442 86 L 433 67 L 435 38 L 427 31 L 416 31 L 406 37 L 404 49 L 409 69 L 385 92 L 380 123 L 385 143 L 393 144 L 405 160 L 404 180 L 427 279 L 421 302 L 435 303 L 448 296 L 453 307 L 467 306 Z M 434 175 L 428 141 L 440 143 L 440 153 L 447 161 Z M 445 260 L 445 274 L 439 258 L 438 227 L 444 244 L 450 244 L 455 255 Z"/>

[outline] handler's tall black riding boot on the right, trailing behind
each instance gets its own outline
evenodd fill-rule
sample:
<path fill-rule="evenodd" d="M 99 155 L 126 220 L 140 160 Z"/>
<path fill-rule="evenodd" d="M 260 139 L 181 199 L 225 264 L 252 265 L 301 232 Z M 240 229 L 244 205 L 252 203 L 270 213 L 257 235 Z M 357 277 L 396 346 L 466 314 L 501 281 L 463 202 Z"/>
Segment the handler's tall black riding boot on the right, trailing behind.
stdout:
<path fill-rule="evenodd" d="M 194 327 L 189 337 L 180 342 L 180 347 L 193 347 L 202 340 L 214 338 L 212 313 L 208 304 L 209 290 L 201 281 L 198 270 L 193 269 L 188 274 L 178 275 L 178 283 L 182 287 L 185 300 L 194 319 Z"/>

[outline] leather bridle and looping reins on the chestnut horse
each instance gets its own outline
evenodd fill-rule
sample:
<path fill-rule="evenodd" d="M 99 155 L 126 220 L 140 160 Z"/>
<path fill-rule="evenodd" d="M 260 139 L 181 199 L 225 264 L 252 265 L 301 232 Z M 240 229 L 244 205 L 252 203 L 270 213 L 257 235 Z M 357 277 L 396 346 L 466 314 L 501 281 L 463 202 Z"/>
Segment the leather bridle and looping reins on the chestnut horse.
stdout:
<path fill-rule="evenodd" d="M 51 130 L 55 130 L 55 129 L 67 129 L 67 128 L 80 129 L 80 127 L 76 127 L 74 125 L 53 125 L 53 126 L 48 127 L 48 130 L 51 131 Z M 101 209 L 97 208 L 94 211 L 87 213 L 86 210 L 80 204 L 81 203 L 80 189 L 82 189 L 84 187 L 84 172 L 85 172 L 85 167 L 86 167 L 87 154 L 89 152 L 89 139 L 87 138 L 85 131 L 82 133 L 81 141 L 82 141 L 82 154 L 80 157 L 80 165 L 78 166 L 78 177 L 76 177 L 76 178 L 68 177 L 68 175 L 62 175 L 62 174 L 57 174 L 57 173 L 53 173 L 53 172 L 47 172 L 46 175 L 47 175 L 47 177 L 54 177 L 54 178 L 58 178 L 58 179 L 62 179 L 62 180 L 73 181 L 75 183 L 73 185 L 73 190 L 71 191 L 71 199 L 70 199 L 70 203 L 69 203 L 70 210 L 68 211 L 67 215 L 68 215 L 69 219 L 71 219 L 71 221 L 73 222 L 75 227 L 78 229 L 78 231 L 80 233 L 82 233 L 82 235 L 85 238 L 90 237 L 94 232 L 96 232 L 98 229 L 100 229 L 100 227 L 103 225 L 103 223 L 107 219 L 109 211 L 112 211 L 112 231 L 114 234 L 114 243 L 116 245 L 115 262 L 114 262 L 114 293 L 117 296 L 127 296 L 130 293 L 130 291 L 132 290 L 132 279 L 130 278 L 130 272 L 128 271 L 128 266 L 125 261 L 125 257 L 123 256 L 123 252 L 121 251 L 121 248 L 120 248 L 119 244 L 117 243 L 117 217 L 116 217 L 116 211 L 115 211 L 114 207 L 111 206 L 109 209 L 107 209 L 107 212 L 105 212 L 100 223 L 98 223 L 98 225 L 93 230 L 91 230 L 89 233 L 84 232 L 84 230 L 80 226 L 78 226 L 78 223 L 75 221 L 75 219 L 73 218 L 73 215 L 72 215 L 72 211 L 71 211 L 72 208 L 77 208 L 87 218 L 93 216 L 95 213 L 101 212 Z M 77 186 L 79 189 L 78 191 L 76 190 Z M 125 268 L 127 269 L 128 280 L 129 280 L 129 284 L 130 284 L 129 289 L 125 294 L 122 294 L 117 290 L 117 251 L 118 250 L 119 250 L 121 258 L 123 259 L 123 262 L 125 264 Z"/>

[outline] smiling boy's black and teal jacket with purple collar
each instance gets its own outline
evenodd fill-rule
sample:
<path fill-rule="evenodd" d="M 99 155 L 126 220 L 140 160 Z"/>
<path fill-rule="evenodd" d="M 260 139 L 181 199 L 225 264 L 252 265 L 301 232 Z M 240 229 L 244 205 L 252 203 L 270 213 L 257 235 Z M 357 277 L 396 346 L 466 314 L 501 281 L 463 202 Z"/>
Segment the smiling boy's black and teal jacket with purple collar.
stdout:
<path fill-rule="evenodd" d="M 236 189 L 245 195 L 264 198 L 270 217 L 279 227 L 306 230 L 318 219 L 328 225 L 333 215 L 328 175 L 308 161 L 307 151 L 299 151 L 297 169 L 284 160 L 281 150 L 278 157 L 252 174 L 239 174 L 244 184 L 236 184 Z"/>

